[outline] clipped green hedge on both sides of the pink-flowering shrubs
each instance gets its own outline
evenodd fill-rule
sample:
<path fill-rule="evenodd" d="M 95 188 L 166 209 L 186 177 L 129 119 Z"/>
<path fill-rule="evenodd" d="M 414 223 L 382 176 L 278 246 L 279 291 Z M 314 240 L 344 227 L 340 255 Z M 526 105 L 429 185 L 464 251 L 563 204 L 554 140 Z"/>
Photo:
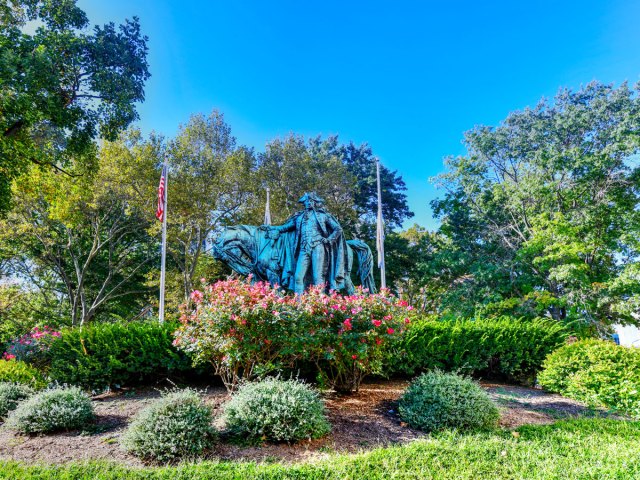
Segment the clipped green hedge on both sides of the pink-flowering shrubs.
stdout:
<path fill-rule="evenodd" d="M 54 382 L 100 390 L 193 375 L 191 359 L 173 346 L 177 324 L 96 323 L 63 330 L 47 353 Z M 386 359 L 386 374 L 440 369 L 485 378 L 530 382 L 567 332 L 551 320 L 512 317 L 410 324 Z M 5 378 L 5 381 L 17 381 Z"/>

